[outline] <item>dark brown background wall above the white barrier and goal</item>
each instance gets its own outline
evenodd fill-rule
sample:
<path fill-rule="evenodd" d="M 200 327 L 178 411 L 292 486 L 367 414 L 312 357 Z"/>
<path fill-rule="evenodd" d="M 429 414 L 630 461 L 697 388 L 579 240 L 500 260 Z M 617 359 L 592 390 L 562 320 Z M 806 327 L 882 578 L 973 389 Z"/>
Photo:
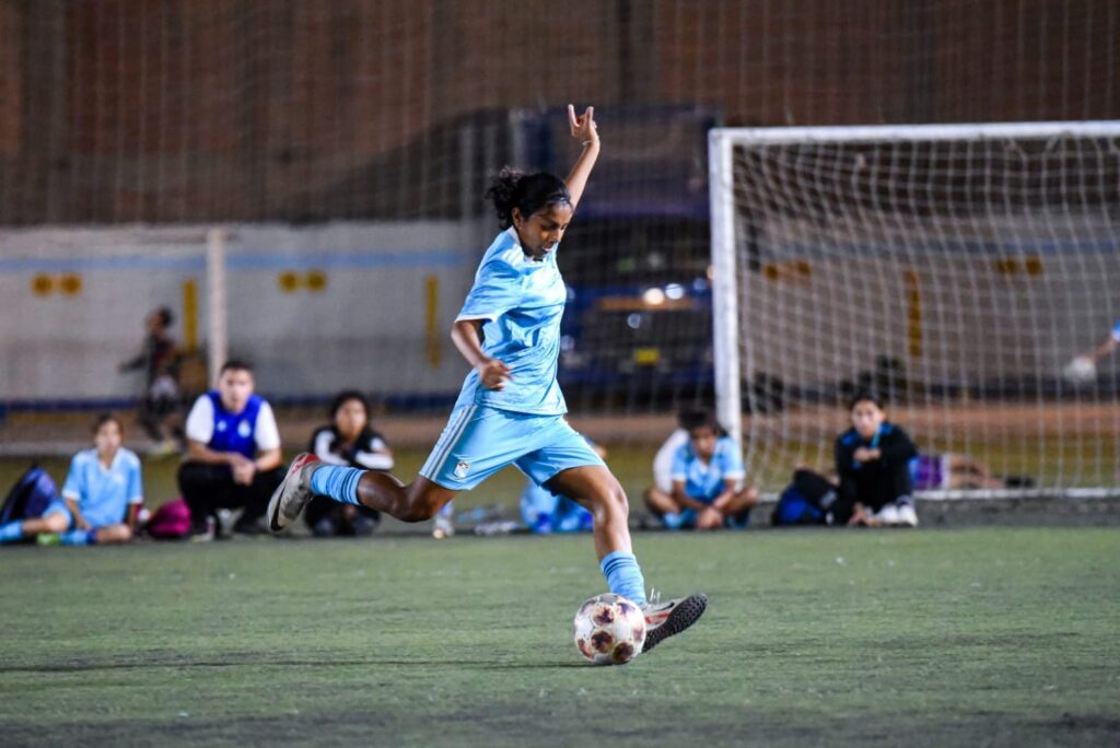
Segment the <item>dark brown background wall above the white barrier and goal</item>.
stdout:
<path fill-rule="evenodd" d="M 1113 0 L 0 0 L 0 223 L 429 215 L 458 124 L 569 101 L 1114 119 L 1118 38 Z"/>

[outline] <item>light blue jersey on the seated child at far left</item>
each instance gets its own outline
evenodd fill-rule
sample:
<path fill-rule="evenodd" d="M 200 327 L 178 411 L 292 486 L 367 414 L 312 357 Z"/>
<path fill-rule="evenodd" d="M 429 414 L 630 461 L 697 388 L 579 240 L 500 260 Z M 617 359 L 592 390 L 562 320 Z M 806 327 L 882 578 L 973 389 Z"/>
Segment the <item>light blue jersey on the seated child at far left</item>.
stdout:
<path fill-rule="evenodd" d="M 63 497 L 77 502 L 82 516 L 94 529 L 121 524 L 130 504 L 143 503 L 140 458 L 122 447 L 106 469 L 96 449 L 80 451 L 71 460 Z"/>

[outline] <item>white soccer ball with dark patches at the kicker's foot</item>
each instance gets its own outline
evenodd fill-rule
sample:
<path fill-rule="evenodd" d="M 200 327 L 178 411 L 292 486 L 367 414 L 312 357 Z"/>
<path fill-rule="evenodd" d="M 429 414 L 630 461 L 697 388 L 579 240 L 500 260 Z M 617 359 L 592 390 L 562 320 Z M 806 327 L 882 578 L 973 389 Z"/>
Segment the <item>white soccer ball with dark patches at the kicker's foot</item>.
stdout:
<path fill-rule="evenodd" d="M 620 595 L 597 595 L 579 606 L 572 621 L 576 647 L 596 665 L 624 665 L 642 654 L 645 616 Z"/>

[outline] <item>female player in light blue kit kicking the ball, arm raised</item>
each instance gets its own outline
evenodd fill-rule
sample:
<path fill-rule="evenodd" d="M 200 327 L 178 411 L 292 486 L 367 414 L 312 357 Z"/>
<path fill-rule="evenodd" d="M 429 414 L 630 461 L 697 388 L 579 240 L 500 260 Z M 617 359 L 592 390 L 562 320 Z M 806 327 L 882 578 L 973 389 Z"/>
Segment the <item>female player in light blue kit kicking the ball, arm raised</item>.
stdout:
<path fill-rule="evenodd" d="M 576 116 L 569 105 L 568 121 L 584 149 L 567 179 L 503 169 L 486 193 L 504 231 L 483 256 L 451 329 L 473 371 L 420 475 L 404 485 L 384 473 L 326 466 L 300 455 L 272 495 L 269 527 L 282 530 L 314 495 L 420 522 L 512 462 L 591 511 L 607 586 L 643 606 L 650 649 L 696 623 L 707 598 L 646 600 L 626 524 L 626 494 L 563 418 L 557 359 L 567 290 L 556 252 L 599 156 L 594 107 Z"/>

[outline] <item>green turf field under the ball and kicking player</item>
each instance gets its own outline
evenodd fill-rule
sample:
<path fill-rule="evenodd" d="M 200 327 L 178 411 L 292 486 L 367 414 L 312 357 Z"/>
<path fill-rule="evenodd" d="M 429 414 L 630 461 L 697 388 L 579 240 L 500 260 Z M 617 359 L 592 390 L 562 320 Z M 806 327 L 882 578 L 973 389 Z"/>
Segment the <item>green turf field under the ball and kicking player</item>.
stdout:
<path fill-rule="evenodd" d="M 1120 531 L 637 542 L 711 605 L 606 668 L 587 536 L 0 549 L 0 744 L 1120 739 Z"/>

